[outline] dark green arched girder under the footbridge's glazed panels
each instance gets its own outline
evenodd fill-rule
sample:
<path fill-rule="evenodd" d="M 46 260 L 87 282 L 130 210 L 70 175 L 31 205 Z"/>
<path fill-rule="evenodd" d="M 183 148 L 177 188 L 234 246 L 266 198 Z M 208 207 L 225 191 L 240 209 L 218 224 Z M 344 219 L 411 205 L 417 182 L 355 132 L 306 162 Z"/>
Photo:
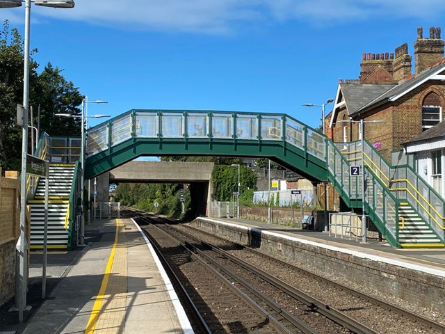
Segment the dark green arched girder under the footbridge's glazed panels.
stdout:
<path fill-rule="evenodd" d="M 131 138 L 86 159 L 86 179 L 141 156 L 267 157 L 312 181 L 327 181 L 327 164 L 283 141 L 215 138 Z"/>

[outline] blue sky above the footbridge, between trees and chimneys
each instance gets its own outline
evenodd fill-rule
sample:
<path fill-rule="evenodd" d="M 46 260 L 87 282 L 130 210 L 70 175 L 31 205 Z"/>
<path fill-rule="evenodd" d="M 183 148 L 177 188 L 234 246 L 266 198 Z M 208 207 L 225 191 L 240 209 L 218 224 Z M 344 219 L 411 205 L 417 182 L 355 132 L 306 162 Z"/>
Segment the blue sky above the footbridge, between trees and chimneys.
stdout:
<path fill-rule="evenodd" d="M 407 42 L 414 61 L 417 26 L 428 35 L 445 22 L 443 0 L 75 1 L 69 10 L 32 6 L 34 58 L 63 69 L 89 100 L 108 101 L 90 114 L 112 116 L 255 111 L 318 127 L 321 108 L 301 104 L 322 104 L 339 79 L 357 79 L 363 52 Z M 23 6 L 1 9 L 0 19 L 23 33 Z"/>

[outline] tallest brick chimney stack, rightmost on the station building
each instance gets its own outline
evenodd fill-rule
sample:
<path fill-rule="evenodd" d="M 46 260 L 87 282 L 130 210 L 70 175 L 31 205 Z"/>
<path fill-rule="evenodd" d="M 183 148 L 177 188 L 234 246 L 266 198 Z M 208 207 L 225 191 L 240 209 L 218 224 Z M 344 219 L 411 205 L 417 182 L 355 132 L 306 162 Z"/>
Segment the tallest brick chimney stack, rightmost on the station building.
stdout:
<path fill-rule="evenodd" d="M 419 74 L 444 57 L 445 42 L 440 38 L 440 28 L 430 28 L 430 38 L 423 38 L 423 28 L 417 28 L 417 40 L 414 42 L 415 72 Z"/>

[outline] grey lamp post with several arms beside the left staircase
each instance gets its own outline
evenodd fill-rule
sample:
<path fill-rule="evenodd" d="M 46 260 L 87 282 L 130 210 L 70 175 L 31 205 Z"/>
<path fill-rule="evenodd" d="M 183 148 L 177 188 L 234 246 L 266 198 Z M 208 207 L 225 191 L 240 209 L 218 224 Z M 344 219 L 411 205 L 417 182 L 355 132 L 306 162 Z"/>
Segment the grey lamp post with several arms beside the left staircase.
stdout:
<path fill-rule="evenodd" d="M 68 118 L 81 118 L 81 224 L 79 228 L 79 246 L 85 245 L 85 215 L 83 214 L 83 192 L 84 192 L 84 183 L 85 183 L 85 106 L 86 106 L 86 97 L 82 100 L 82 113 L 81 115 L 72 115 L 70 113 L 56 113 L 55 116 L 62 116 Z M 92 101 L 90 101 L 92 103 Z M 96 102 L 96 103 L 106 103 L 105 101 Z M 102 117 L 110 117 L 110 115 L 88 115 L 88 118 L 102 118 Z"/>

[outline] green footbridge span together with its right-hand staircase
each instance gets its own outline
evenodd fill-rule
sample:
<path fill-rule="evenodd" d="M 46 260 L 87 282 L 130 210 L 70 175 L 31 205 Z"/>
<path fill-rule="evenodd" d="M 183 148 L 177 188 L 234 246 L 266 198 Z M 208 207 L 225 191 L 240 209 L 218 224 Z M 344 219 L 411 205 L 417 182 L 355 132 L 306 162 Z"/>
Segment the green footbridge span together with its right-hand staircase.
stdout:
<path fill-rule="evenodd" d="M 266 157 L 331 182 L 349 211 L 360 211 L 364 200 L 393 247 L 445 244 L 445 201 L 410 166 L 391 166 L 367 141 L 364 148 L 361 141 L 334 143 L 285 114 L 131 110 L 86 136 L 86 179 L 141 156 Z M 351 175 L 351 166 L 363 166 L 362 175 Z"/>

